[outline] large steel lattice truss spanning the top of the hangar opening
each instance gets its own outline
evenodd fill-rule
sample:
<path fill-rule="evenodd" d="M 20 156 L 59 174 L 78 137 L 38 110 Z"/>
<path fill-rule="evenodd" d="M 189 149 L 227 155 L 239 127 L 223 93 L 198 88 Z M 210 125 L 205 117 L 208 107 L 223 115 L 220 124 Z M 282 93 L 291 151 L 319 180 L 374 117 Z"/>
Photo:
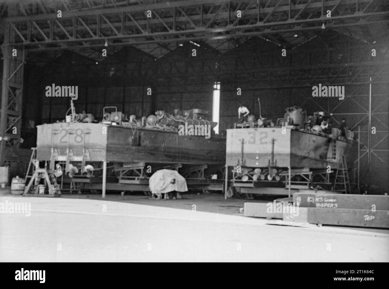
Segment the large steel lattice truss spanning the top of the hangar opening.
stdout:
<path fill-rule="evenodd" d="M 6 41 L 27 49 L 226 39 L 389 22 L 381 0 L 44 0 L 18 2 Z M 35 3 L 35 4 L 34 4 Z M 57 17 L 61 10 L 62 17 Z M 147 10 L 152 17 L 147 17 Z M 237 17 L 240 10 L 242 17 Z M 327 11 L 331 10 L 331 17 Z M 10 13 L 9 13 L 10 14 Z M 10 15 L 9 15 L 10 16 Z"/>

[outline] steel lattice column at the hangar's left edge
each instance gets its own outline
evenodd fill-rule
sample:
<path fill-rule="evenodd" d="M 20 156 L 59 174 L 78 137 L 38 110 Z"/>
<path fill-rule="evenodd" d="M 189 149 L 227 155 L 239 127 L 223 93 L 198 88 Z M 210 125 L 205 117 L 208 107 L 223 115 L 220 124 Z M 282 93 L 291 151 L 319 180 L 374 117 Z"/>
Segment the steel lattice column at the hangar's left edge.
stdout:
<path fill-rule="evenodd" d="M 3 80 L 0 109 L 0 165 L 18 160 L 22 117 L 25 51 L 2 45 Z"/>

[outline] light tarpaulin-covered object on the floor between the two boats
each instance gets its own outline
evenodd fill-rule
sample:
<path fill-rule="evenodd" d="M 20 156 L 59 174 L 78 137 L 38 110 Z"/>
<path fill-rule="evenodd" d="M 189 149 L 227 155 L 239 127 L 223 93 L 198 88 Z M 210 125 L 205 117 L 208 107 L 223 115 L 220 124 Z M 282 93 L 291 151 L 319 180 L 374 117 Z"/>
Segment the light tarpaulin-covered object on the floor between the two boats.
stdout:
<path fill-rule="evenodd" d="M 154 172 L 149 179 L 149 187 L 151 190 L 151 198 L 153 200 L 160 200 L 162 194 L 169 192 L 187 192 L 188 187 L 186 180 L 177 171 L 163 169 Z"/>

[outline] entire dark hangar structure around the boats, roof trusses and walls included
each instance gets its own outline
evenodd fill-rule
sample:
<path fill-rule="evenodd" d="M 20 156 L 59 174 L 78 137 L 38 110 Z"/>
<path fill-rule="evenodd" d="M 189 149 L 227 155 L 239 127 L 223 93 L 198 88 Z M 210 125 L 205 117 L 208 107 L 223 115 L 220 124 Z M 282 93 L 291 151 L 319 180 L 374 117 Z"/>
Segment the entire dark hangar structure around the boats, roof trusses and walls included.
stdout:
<path fill-rule="evenodd" d="M 219 136 L 241 105 L 273 120 L 291 106 L 331 113 L 334 126 L 345 117 L 360 142 L 359 192 L 389 189 L 387 1 L 0 3 L 0 165 L 10 180 L 26 174 L 37 125 L 65 119 L 69 98 L 45 95 L 55 84 L 78 86 L 76 111 L 99 120 L 105 106 L 137 118 L 198 108 L 212 118 L 217 90 Z M 312 97 L 318 84 L 344 86 L 345 98 Z"/>

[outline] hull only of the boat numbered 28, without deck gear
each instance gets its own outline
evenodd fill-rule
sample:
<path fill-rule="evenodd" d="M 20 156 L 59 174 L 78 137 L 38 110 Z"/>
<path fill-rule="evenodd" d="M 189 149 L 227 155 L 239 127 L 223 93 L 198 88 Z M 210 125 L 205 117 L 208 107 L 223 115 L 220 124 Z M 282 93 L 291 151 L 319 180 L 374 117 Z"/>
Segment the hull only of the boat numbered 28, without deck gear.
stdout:
<path fill-rule="evenodd" d="M 37 159 L 86 162 L 224 164 L 225 138 L 95 123 L 37 126 Z M 53 153 L 52 153 L 53 148 Z"/>

